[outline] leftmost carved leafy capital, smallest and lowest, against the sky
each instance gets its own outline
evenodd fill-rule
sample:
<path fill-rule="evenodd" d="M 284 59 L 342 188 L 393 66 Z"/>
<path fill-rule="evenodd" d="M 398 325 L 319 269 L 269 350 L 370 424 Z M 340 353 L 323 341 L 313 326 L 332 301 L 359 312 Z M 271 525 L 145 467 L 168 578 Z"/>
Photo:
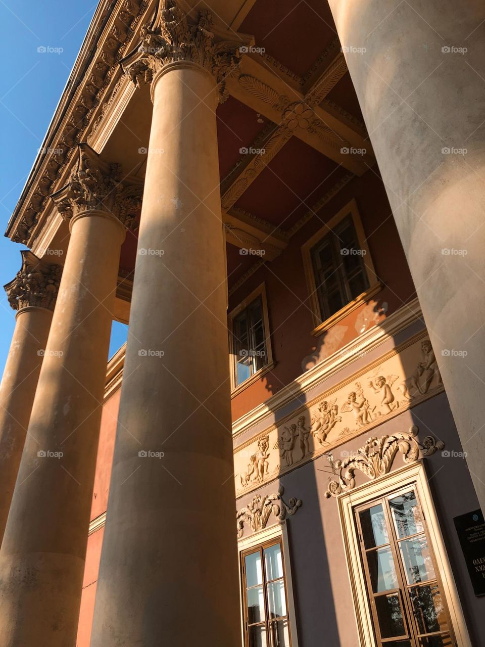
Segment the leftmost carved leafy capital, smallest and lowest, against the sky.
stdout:
<path fill-rule="evenodd" d="M 14 310 L 29 306 L 54 310 L 61 280 L 61 265 L 46 265 L 29 250 L 22 254 L 22 267 L 16 278 L 4 285 L 8 303 Z"/>

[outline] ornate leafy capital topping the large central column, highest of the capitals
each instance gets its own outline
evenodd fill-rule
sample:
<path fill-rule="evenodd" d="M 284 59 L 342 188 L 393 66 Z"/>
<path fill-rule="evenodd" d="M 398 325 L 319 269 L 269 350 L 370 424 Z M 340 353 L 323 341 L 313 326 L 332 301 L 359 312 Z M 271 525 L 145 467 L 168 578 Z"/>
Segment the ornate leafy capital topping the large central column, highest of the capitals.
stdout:
<path fill-rule="evenodd" d="M 121 61 L 125 73 L 140 87 L 151 83 L 168 63 L 197 63 L 215 78 L 224 101 L 224 79 L 237 67 L 244 42 L 217 38 L 213 25 L 208 9 L 201 9 L 197 21 L 191 21 L 176 0 L 161 0 L 152 24 L 142 28 L 138 49 Z"/>

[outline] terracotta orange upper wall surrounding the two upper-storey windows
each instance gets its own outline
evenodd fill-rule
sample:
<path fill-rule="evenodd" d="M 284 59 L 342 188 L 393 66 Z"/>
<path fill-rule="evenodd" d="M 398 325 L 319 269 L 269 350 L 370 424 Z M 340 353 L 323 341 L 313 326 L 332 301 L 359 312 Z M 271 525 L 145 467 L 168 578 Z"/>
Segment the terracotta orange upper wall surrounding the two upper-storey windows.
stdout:
<path fill-rule="evenodd" d="M 323 356 L 330 355 L 362 332 L 361 313 L 365 305 L 350 313 L 318 338 L 311 334 L 314 325 L 308 304 L 308 288 L 301 254 L 301 246 L 352 198 L 356 199 L 376 274 L 382 283 L 385 283 L 385 287 L 372 298 L 371 301 L 376 302 L 376 305 L 372 305 L 369 310 L 382 308 L 386 303 L 389 315 L 414 298 L 413 280 L 394 225 L 391 207 L 382 181 L 374 171 L 376 167 L 367 171 L 363 177 L 356 177 L 350 181 L 325 205 L 318 217 L 313 217 L 292 237 L 281 256 L 268 263 L 268 267 L 264 265 L 257 270 L 232 294 L 230 310 L 239 305 L 263 281 L 266 284 L 272 350 L 276 362 L 272 371 L 233 398 L 233 420 L 237 420 L 301 375 L 305 366 L 311 366 L 312 354 L 316 353 L 321 360 Z M 378 316 L 378 319 L 382 320 L 385 316 Z M 371 325 L 372 322 L 367 321 L 366 328 Z M 341 338 L 336 333 L 343 331 L 337 331 L 337 326 L 346 327 Z"/>

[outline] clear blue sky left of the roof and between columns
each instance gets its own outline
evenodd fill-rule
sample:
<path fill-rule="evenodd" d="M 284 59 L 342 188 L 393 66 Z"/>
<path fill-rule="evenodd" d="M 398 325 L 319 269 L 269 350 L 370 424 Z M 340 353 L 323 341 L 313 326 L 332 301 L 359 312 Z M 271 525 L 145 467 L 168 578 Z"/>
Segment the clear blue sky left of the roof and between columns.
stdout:
<path fill-rule="evenodd" d="M 0 284 L 20 269 L 20 250 L 3 236 L 27 181 L 72 65 L 96 10 L 87 0 L 0 0 Z M 38 47 L 62 49 L 41 53 Z M 15 313 L 0 288 L 0 375 Z M 125 341 L 126 327 L 114 323 L 110 356 Z"/>

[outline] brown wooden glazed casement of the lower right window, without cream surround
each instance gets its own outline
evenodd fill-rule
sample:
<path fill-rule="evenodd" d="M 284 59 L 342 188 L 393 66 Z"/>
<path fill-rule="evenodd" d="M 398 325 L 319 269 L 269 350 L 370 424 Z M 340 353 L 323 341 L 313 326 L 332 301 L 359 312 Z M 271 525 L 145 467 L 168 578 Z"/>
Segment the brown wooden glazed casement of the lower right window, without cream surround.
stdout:
<path fill-rule="evenodd" d="M 357 507 L 355 519 L 378 646 L 455 646 L 416 488 Z"/>

